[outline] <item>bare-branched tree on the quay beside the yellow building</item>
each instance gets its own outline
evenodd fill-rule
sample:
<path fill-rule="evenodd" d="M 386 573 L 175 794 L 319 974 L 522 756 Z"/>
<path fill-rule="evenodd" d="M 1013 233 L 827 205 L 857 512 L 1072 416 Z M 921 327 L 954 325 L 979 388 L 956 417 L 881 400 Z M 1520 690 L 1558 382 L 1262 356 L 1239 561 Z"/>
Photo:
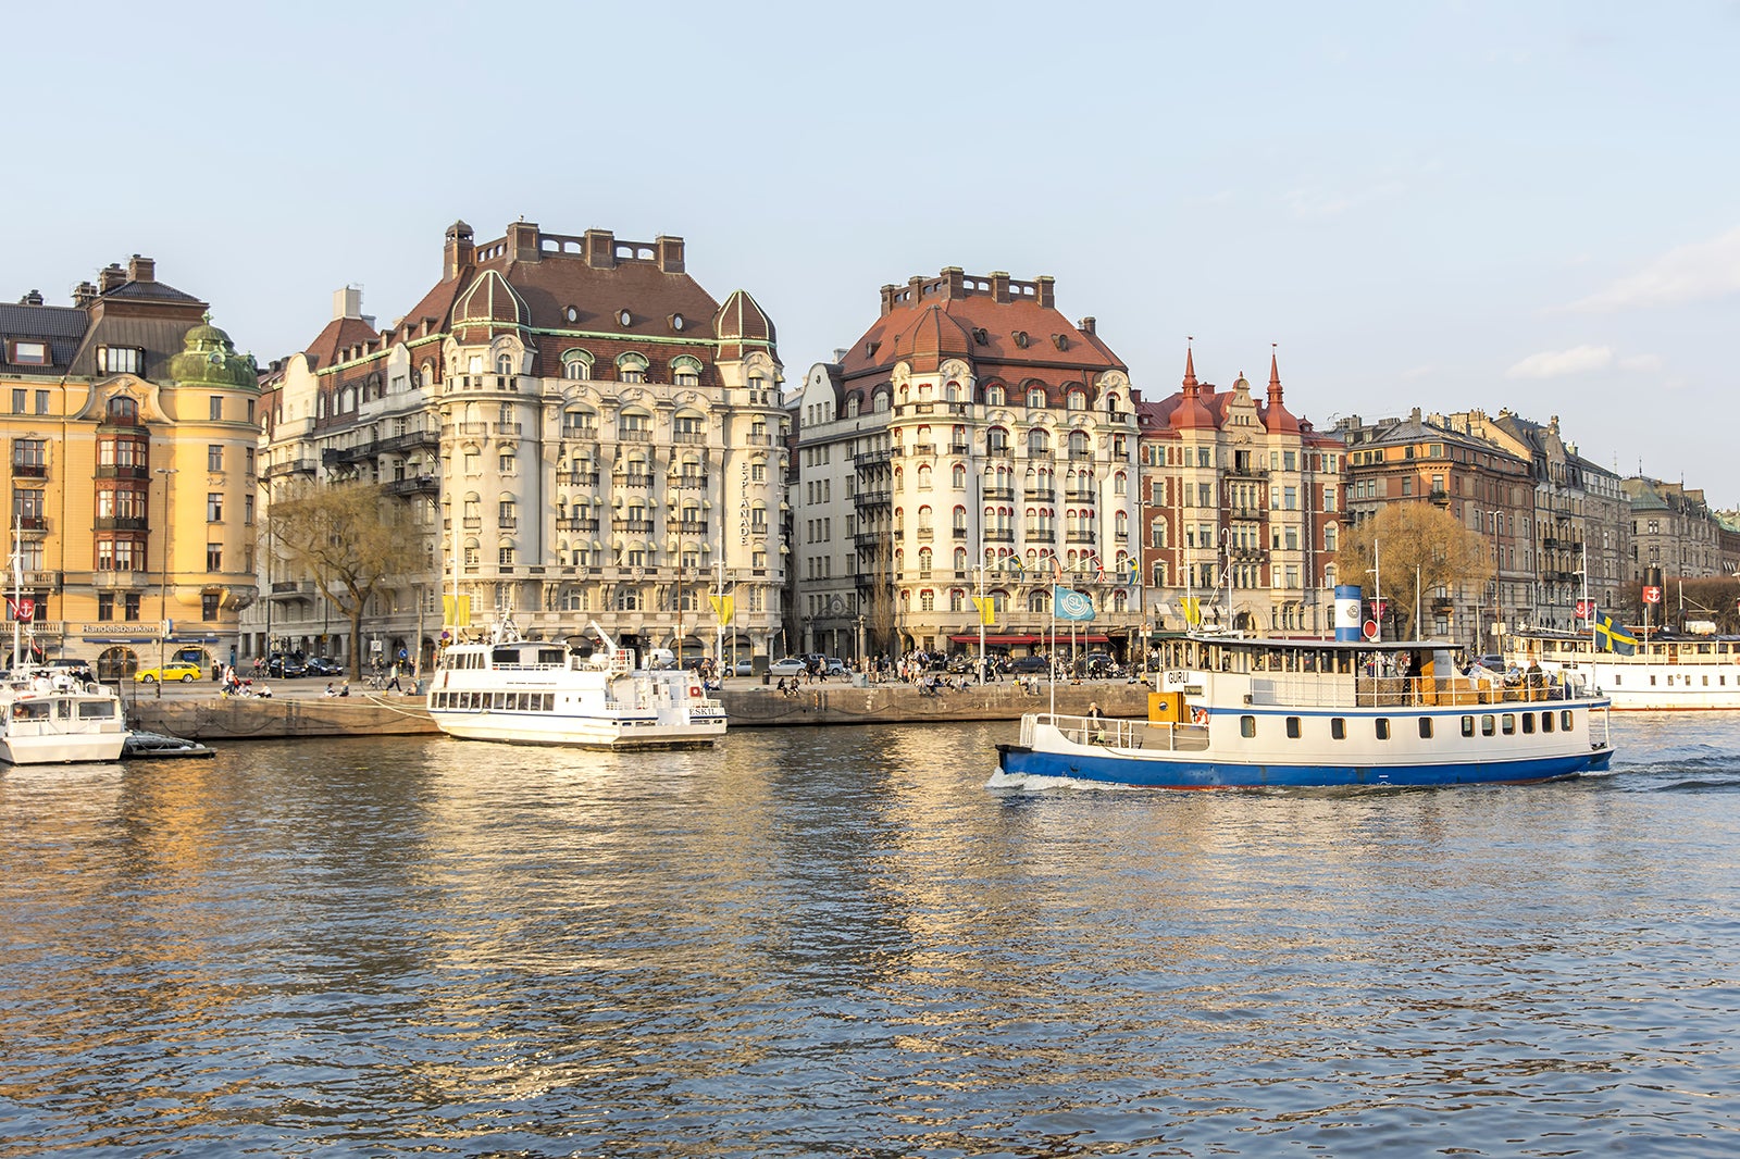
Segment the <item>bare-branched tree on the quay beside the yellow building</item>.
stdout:
<path fill-rule="evenodd" d="M 292 484 L 271 498 L 266 526 L 273 555 L 350 620 L 350 672 L 360 680 L 362 613 L 390 578 L 421 566 L 423 536 L 402 503 L 360 482 Z"/>

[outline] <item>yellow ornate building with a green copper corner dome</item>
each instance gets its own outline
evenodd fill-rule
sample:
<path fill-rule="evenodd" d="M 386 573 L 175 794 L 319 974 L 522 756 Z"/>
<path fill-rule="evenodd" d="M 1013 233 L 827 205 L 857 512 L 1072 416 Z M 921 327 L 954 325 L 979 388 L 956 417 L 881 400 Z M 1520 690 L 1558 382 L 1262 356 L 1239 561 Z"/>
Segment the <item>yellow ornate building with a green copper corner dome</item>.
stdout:
<path fill-rule="evenodd" d="M 228 661 L 254 600 L 254 362 L 134 258 L 0 306 L 7 553 L 28 635 L 104 679 L 198 646 Z M 10 576 L 7 578 L 10 595 Z"/>

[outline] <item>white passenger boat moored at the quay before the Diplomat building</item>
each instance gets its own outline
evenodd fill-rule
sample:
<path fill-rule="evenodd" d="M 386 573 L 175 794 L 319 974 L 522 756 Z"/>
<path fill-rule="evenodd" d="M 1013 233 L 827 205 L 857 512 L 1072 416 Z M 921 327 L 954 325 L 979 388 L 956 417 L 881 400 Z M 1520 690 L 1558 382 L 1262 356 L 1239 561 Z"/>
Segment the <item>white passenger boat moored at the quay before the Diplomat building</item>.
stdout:
<path fill-rule="evenodd" d="M 597 623 L 590 654 L 525 640 L 512 623 L 489 640 L 449 644 L 435 661 L 428 712 L 465 740 L 590 748 L 680 748 L 726 734 L 726 710 L 680 668 L 642 668 Z"/>

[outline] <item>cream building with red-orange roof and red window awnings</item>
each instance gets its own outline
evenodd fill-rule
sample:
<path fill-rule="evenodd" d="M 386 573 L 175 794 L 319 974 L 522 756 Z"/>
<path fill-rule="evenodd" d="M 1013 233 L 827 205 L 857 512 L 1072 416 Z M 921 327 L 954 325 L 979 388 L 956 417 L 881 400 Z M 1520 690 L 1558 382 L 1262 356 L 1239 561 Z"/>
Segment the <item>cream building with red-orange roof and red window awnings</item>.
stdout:
<path fill-rule="evenodd" d="M 1053 583 L 1094 600 L 1077 646 L 1128 647 L 1138 399 L 1094 320 L 957 266 L 880 306 L 797 399 L 793 651 L 974 653 L 981 599 L 990 651 L 1046 651 Z"/>

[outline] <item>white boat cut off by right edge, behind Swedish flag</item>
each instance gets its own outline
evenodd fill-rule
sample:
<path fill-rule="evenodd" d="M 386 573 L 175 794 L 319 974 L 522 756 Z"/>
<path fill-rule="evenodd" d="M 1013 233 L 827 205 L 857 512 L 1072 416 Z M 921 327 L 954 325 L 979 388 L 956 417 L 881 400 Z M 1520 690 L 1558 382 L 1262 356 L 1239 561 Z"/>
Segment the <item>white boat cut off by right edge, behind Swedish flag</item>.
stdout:
<path fill-rule="evenodd" d="M 1571 672 L 1601 689 L 1620 712 L 1740 708 L 1740 639 L 1731 635 L 1643 633 L 1632 654 L 1597 649 L 1589 635 L 1517 632 L 1505 661 L 1545 672 Z"/>

